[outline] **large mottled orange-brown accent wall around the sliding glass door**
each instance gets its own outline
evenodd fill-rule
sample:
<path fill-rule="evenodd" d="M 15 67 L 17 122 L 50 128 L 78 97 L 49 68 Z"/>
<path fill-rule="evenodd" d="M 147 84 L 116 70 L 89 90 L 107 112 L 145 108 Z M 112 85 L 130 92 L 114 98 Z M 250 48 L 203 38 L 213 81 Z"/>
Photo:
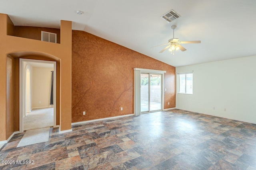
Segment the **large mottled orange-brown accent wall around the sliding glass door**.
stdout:
<path fill-rule="evenodd" d="M 72 122 L 132 114 L 134 68 L 166 70 L 164 108 L 175 107 L 174 66 L 72 30 Z"/>

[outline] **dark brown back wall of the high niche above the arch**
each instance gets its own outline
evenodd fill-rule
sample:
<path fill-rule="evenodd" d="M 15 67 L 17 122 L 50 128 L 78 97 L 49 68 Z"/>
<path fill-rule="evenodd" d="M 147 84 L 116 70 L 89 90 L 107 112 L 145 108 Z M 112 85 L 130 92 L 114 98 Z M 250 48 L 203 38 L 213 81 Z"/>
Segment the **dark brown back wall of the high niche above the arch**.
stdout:
<path fill-rule="evenodd" d="M 41 40 L 41 31 L 56 33 L 57 43 L 60 43 L 60 29 L 45 27 L 14 26 L 14 36 L 16 37 Z"/>

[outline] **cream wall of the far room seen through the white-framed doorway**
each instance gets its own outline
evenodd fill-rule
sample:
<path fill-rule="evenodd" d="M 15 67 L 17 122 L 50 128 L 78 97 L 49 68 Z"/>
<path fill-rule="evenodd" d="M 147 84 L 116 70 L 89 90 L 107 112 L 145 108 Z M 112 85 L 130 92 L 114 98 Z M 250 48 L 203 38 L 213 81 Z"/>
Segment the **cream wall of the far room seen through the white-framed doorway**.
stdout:
<path fill-rule="evenodd" d="M 50 105 L 51 71 L 53 68 L 33 67 L 33 108 L 52 107 Z"/>

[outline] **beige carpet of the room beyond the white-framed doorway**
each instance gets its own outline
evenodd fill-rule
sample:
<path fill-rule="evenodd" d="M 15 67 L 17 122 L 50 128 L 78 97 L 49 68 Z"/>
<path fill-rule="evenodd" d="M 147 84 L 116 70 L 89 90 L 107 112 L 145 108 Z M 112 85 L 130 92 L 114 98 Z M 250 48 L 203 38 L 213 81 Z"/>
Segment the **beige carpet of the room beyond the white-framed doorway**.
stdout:
<path fill-rule="evenodd" d="M 24 131 L 53 126 L 53 107 L 33 109 L 23 118 Z"/>

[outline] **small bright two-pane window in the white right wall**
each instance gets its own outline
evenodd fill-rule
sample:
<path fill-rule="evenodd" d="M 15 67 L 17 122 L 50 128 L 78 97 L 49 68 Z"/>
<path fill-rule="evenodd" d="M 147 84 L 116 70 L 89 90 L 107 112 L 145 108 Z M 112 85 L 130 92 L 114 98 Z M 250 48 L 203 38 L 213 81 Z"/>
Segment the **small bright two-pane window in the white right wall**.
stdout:
<path fill-rule="evenodd" d="M 193 73 L 178 73 L 178 93 L 193 94 Z"/>

